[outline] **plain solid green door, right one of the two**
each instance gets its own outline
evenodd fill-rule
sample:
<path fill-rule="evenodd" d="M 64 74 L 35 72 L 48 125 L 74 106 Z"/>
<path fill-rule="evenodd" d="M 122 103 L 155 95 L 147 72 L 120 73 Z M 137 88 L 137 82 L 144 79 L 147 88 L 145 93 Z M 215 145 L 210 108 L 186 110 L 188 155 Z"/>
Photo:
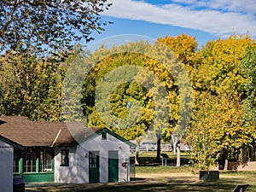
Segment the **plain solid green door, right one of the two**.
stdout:
<path fill-rule="evenodd" d="M 108 151 L 108 182 L 119 181 L 119 151 Z"/>

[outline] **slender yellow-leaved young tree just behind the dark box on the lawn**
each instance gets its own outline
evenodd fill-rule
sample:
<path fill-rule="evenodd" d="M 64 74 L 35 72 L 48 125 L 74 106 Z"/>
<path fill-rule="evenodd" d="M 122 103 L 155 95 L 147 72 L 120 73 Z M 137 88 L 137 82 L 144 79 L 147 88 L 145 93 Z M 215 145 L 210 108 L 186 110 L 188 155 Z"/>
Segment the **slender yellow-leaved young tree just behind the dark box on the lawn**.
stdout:
<path fill-rule="evenodd" d="M 195 92 L 195 105 L 193 108 L 192 121 L 186 134 L 186 142 L 191 146 L 189 157 L 195 169 L 209 169 L 216 160 L 216 143 L 211 138 L 213 126 L 213 115 L 215 108 L 212 108 L 214 97 L 205 92 Z"/>

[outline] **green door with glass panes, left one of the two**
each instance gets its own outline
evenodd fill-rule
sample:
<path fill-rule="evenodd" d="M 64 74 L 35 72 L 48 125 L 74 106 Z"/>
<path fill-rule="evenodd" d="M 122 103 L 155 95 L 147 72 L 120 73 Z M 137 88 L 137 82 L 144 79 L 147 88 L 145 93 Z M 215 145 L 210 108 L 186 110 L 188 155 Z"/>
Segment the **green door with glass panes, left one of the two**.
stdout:
<path fill-rule="evenodd" d="M 100 159 L 98 151 L 89 152 L 89 183 L 100 182 Z"/>

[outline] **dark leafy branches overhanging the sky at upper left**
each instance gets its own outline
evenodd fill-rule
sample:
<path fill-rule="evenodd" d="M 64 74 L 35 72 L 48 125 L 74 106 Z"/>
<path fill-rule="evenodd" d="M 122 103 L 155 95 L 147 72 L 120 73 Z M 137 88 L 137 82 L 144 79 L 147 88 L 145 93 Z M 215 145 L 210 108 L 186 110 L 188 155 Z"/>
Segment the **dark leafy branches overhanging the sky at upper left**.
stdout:
<path fill-rule="evenodd" d="M 102 32 L 109 23 L 100 14 L 110 6 L 107 0 L 2 0 L 0 51 L 53 51 L 90 41 L 91 32 Z"/>

